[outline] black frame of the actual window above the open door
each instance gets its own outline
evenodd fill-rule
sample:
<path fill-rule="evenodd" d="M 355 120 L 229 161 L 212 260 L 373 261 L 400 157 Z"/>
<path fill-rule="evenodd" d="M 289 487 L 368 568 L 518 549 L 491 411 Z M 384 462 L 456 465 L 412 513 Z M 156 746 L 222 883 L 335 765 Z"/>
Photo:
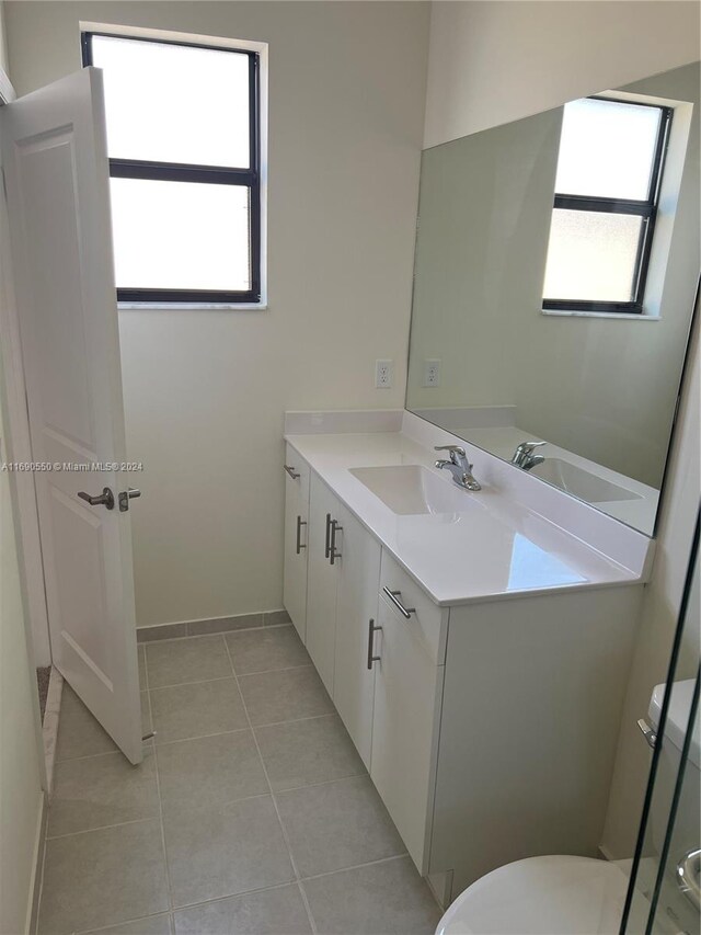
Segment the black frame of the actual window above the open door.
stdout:
<path fill-rule="evenodd" d="M 127 39 L 129 42 L 176 45 L 186 48 L 205 48 L 245 55 L 249 59 L 249 168 L 198 166 L 187 162 L 159 162 L 139 159 L 110 158 L 110 176 L 115 179 L 151 179 L 168 182 L 198 182 L 217 185 L 240 185 L 249 189 L 249 247 L 251 288 L 222 289 L 153 289 L 116 287 L 118 303 L 158 305 L 255 305 L 262 307 L 262 215 L 261 215 L 261 55 L 250 48 L 211 43 L 187 42 L 176 38 L 154 38 L 148 35 L 111 32 L 110 30 L 82 30 L 80 34 L 83 67 L 93 65 L 94 36 Z"/>

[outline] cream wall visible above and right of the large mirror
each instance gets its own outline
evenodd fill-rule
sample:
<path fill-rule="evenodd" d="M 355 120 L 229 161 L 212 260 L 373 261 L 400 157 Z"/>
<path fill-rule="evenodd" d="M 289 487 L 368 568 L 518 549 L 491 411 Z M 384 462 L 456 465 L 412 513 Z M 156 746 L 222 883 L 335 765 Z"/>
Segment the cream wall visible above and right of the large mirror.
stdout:
<path fill-rule="evenodd" d="M 666 0 L 434 3 L 426 145 L 698 60 L 699 14 Z M 648 752 L 635 719 L 664 680 L 699 505 L 698 331 L 602 839 L 612 856 L 630 856 L 637 832 Z"/>

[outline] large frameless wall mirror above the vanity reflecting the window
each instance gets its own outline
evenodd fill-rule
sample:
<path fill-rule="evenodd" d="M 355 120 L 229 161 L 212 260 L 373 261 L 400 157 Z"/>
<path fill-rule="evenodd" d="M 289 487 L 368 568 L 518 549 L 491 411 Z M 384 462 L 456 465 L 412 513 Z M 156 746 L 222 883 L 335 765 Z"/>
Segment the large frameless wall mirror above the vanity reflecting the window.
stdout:
<path fill-rule="evenodd" d="M 423 153 L 406 408 L 652 535 L 699 277 L 699 64 Z"/>

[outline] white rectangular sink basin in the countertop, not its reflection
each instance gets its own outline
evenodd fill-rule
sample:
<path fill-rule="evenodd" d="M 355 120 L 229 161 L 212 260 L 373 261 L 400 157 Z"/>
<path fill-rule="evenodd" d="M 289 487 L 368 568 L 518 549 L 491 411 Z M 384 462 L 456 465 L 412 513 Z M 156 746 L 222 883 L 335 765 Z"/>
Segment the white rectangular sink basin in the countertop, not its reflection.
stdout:
<path fill-rule="evenodd" d="M 421 465 L 350 468 L 350 474 L 401 516 L 420 513 L 458 513 L 467 510 L 469 494 Z"/>

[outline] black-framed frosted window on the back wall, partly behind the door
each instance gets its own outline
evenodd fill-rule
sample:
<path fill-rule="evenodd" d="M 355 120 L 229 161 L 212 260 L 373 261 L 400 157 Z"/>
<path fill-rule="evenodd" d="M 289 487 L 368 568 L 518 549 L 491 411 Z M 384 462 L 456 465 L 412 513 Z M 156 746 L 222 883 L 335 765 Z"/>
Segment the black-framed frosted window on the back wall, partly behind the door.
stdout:
<path fill-rule="evenodd" d="M 117 298 L 261 301 L 258 54 L 85 32 L 104 72 Z"/>

